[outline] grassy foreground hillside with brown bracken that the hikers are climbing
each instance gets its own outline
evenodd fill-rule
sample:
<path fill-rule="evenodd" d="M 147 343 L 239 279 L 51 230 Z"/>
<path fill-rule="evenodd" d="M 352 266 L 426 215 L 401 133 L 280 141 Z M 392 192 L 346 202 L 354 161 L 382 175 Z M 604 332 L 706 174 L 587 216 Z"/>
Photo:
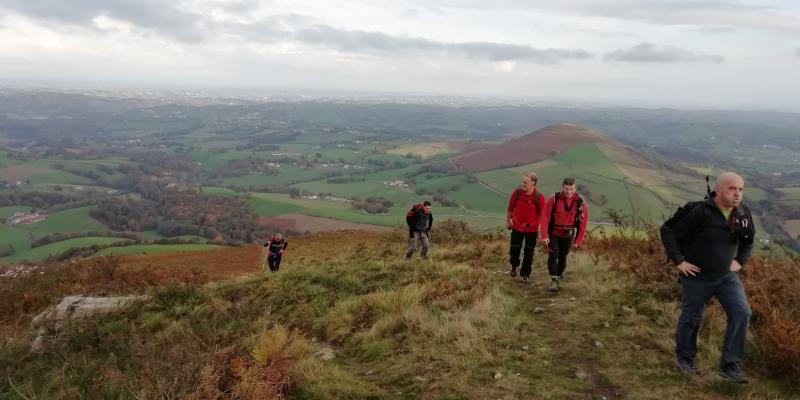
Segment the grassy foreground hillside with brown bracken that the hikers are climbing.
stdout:
<path fill-rule="evenodd" d="M 603 261 L 600 253 L 575 253 L 564 290 L 553 295 L 544 290 L 541 254 L 533 284 L 505 274 L 504 237 L 453 229 L 440 233 L 430 261 L 404 261 L 402 232 L 358 235 L 337 243 L 336 251 L 330 235 L 296 238 L 278 274 L 205 286 L 148 287 L 127 275 L 87 280 L 94 290 L 147 293 L 152 300 L 72 324 L 49 337 L 43 354 L 29 354 L 24 329 L 9 334 L 0 343 L 0 374 L 8 378 L 0 381 L 0 393 L 14 399 L 798 394 L 796 381 L 792 386 L 788 378 L 770 377 L 753 346 L 745 364 L 749 385 L 716 377 L 724 329 L 716 305 L 701 331 L 703 374 L 687 379 L 675 372 L 674 283 L 654 290 L 635 270 L 612 268 L 618 263 Z M 257 257 L 253 248 L 225 251 Z M 238 262 L 251 271 L 250 261 Z"/>

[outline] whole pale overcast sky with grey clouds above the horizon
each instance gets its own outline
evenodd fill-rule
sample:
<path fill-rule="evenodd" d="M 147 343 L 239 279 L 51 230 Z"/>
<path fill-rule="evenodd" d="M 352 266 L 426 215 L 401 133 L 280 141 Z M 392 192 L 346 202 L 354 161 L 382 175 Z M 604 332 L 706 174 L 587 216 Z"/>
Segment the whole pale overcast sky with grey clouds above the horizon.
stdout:
<path fill-rule="evenodd" d="M 800 112 L 795 0 L 0 0 L 0 79 Z"/>

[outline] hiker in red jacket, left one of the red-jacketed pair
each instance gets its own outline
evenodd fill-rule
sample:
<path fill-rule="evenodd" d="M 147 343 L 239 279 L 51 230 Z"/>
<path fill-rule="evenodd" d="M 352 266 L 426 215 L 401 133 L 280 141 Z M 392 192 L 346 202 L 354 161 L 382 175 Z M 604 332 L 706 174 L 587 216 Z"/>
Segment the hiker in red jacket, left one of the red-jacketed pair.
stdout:
<path fill-rule="evenodd" d="M 522 269 L 519 271 L 523 282 L 529 282 L 533 267 L 533 251 L 536 249 L 536 237 L 539 235 L 539 220 L 544 209 L 544 195 L 536 190 L 539 177 L 530 172 L 522 178 L 522 187 L 511 193 L 506 214 L 506 228 L 511 229 L 511 246 L 509 249 L 511 269 L 509 274 L 517 276 L 519 253 L 525 242 L 522 256 Z"/>

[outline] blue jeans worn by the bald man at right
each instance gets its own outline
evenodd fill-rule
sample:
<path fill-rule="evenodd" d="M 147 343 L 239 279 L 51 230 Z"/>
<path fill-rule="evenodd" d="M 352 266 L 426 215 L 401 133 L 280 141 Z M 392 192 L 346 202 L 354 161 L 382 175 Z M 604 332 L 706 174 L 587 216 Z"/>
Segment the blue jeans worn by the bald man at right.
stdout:
<path fill-rule="evenodd" d="M 694 361 L 703 307 L 711 297 L 719 300 L 728 317 L 719 365 L 738 364 L 744 354 L 747 325 L 752 311 L 742 280 L 735 272 L 711 281 L 681 277 L 681 315 L 675 332 L 675 354 L 679 359 Z"/>

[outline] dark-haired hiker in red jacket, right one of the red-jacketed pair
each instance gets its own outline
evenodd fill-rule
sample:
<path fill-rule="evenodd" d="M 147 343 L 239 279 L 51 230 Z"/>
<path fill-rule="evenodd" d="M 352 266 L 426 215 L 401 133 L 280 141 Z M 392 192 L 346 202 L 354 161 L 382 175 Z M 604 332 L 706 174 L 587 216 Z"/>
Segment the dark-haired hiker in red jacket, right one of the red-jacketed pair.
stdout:
<path fill-rule="evenodd" d="M 575 192 L 575 178 L 564 178 L 561 191 L 550 196 L 542 212 L 539 237 L 547 246 L 547 268 L 550 270 L 548 290 L 560 290 L 564 269 L 567 268 L 567 254 L 574 245 L 583 245 L 586 235 L 586 220 L 589 212 L 586 202 Z"/>

